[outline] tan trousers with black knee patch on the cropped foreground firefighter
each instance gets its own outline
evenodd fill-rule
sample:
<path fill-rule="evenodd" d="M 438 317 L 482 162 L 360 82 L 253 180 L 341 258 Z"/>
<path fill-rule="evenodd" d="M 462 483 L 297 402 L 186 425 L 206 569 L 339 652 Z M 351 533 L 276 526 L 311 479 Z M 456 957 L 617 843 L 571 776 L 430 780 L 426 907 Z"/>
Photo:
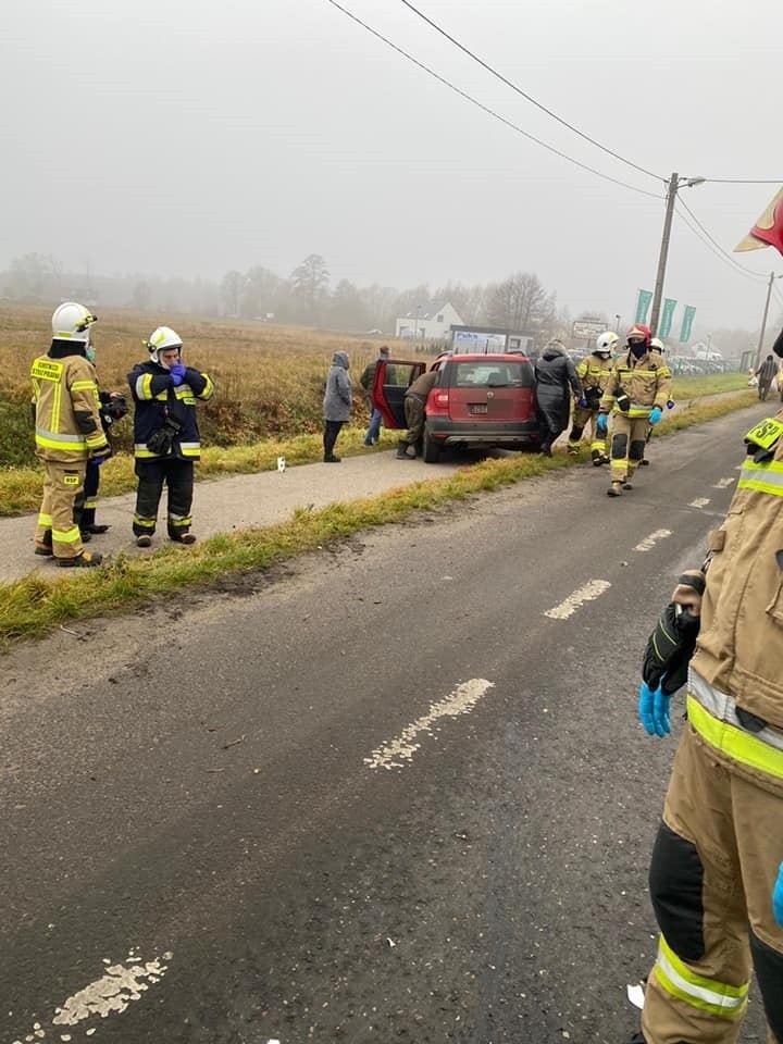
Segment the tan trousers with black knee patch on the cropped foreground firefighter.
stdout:
<path fill-rule="evenodd" d="M 731 742 L 721 733 L 723 746 Z M 783 772 L 778 751 L 770 771 L 741 765 L 685 726 L 649 872 L 661 935 L 642 1012 L 647 1044 L 735 1044 L 751 970 L 768 1044 L 783 1044 L 783 928 L 772 912 L 783 859 L 775 761 Z"/>

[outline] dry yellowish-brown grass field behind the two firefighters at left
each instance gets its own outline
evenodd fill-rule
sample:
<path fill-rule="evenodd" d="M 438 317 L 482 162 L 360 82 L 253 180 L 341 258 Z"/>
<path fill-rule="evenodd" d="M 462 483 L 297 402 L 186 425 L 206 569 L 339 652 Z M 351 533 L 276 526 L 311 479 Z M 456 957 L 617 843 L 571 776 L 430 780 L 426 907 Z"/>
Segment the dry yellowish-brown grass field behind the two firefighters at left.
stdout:
<path fill-rule="evenodd" d="M 142 345 L 157 325 L 173 326 L 184 341 L 188 364 L 206 370 L 217 385 L 214 399 L 199 407 L 207 446 L 237 446 L 262 438 L 290 438 L 320 432 L 324 381 L 332 356 L 348 352 L 355 389 L 382 338 L 333 334 L 304 327 L 278 327 L 232 320 L 141 315 L 98 311 L 94 340 L 97 368 L 107 390 L 127 391 L 126 375 L 147 359 Z M 51 309 L 0 307 L 0 465 L 33 462 L 29 453 L 29 368 L 51 340 Z M 406 356 L 410 346 L 400 346 Z M 355 394 L 355 423 L 366 422 Z M 119 449 L 130 443 L 130 423 L 115 428 Z M 24 447 L 22 446 L 24 443 Z"/>

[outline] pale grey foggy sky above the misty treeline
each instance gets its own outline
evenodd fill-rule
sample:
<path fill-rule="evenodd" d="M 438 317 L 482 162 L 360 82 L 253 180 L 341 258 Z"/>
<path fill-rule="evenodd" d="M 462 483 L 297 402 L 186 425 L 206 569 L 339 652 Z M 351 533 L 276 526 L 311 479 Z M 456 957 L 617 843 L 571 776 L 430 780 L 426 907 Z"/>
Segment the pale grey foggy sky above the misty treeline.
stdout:
<path fill-rule="evenodd" d="M 220 279 L 309 253 L 398 288 L 537 273 L 573 313 L 633 319 L 652 289 L 663 179 L 730 253 L 783 185 L 780 0 L 340 0 L 487 108 L 650 198 L 525 139 L 327 0 L 5 0 L 0 269 Z M 675 217 L 664 294 L 709 326 L 758 326 L 771 249 L 716 257 Z M 783 279 L 779 287 L 783 287 Z M 775 288 L 771 319 L 781 314 Z"/>

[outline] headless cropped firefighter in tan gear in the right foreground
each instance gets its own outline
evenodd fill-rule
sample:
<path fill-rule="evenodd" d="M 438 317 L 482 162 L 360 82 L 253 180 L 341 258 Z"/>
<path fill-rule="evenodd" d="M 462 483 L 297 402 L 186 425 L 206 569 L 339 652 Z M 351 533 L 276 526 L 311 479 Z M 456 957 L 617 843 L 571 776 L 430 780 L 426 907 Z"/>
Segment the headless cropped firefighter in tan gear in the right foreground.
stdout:
<path fill-rule="evenodd" d="M 661 934 L 637 1044 L 733 1044 L 753 970 L 768 1041 L 783 1042 L 783 411 L 745 443 L 707 563 L 673 595 L 680 617 L 699 626 L 652 849 Z M 669 667 L 660 675 L 647 667 L 639 718 L 664 736 L 682 679 L 667 686 Z"/>

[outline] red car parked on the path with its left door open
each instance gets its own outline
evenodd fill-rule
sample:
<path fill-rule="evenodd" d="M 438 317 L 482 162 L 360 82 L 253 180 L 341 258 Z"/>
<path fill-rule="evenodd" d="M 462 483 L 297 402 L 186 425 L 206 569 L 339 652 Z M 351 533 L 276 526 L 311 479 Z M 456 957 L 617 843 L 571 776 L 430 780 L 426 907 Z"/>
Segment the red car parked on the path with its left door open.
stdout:
<path fill-rule="evenodd" d="M 524 449 L 539 443 L 535 375 L 526 356 L 439 356 L 425 407 L 422 456 L 435 463 L 446 446 Z M 389 359 L 375 369 L 373 398 L 387 428 L 406 428 L 405 394 L 425 362 Z"/>

